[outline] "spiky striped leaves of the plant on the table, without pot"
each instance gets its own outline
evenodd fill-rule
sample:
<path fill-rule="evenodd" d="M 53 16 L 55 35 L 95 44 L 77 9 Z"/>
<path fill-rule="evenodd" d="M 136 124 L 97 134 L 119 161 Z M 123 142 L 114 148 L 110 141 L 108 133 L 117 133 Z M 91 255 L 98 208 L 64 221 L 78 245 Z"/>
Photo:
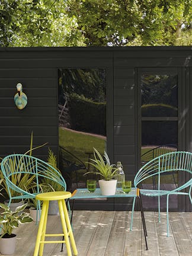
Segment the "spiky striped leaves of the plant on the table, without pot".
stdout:
<path fill-rule="evenodd" d="M 86 172 L 86 174 L 97 174 L 103 177 L 105 181 L 110 181 L 115 177 L 117 168 L 114 167 L 114 164 L 110 164 L 110 159 L 105 151 L 103 156 L 94 148 L 94 159 L 90 158 L 92 162 L 89 162 L 89 164 L 97 171 Z"/>

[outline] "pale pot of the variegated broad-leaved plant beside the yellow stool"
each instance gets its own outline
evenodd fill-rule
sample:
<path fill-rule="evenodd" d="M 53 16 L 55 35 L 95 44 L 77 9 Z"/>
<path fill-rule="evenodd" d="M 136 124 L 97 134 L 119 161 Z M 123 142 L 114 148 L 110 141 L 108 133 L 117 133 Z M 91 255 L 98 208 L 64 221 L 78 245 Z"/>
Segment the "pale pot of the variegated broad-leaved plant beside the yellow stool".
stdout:
<path fill-rule="evenodd" d="M 14 254 L 16 244 L 16 235 L 12 234 L 11 238 L 0 238 L 1 254 Z"/>

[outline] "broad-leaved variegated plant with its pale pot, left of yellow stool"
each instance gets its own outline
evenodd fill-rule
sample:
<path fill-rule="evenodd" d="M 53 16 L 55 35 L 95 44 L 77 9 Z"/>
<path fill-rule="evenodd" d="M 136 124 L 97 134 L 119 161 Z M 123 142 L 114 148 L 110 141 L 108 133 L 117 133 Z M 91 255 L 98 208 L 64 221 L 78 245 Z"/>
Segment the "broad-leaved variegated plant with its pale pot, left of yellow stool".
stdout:
<path fill-rule="evenodd" d="M 0 215 L 0 252 L 1 254 L 13 254 L 16 243 L 16 235 L 13 233 L 13 229 L 18 228 L 21 223 L 30 223 L 33 219 L 29 213 L 23 212 L 27 203 L 18 206 L 14 212 L 6 204 L 0 203 L 0 207 L 2 209 Z"/>

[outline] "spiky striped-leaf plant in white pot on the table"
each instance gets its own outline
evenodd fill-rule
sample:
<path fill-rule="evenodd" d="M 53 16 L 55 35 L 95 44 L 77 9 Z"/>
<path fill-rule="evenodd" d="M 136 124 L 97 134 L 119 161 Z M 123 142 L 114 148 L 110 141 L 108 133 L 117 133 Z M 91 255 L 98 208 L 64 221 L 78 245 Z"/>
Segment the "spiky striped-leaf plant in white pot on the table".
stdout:
<path fill-rule="evenodd" d="M 100 185 L 101 194 L 103 194 L 103 196 L 113 196 L 116 193 L 117 180 L 115 177 L 117 168 L 114 167 L 114 164 L 110 164 L 110 159 L 105 151 L 102 156 L 95 148 L 94 159 L 90 158 L 89 160 L 89 164 L 95 168 L 95 171 L 87 172 L 86 174 L 93 173 L 100 175 L 102 179 L 99 180 L 98 183 Z"/>

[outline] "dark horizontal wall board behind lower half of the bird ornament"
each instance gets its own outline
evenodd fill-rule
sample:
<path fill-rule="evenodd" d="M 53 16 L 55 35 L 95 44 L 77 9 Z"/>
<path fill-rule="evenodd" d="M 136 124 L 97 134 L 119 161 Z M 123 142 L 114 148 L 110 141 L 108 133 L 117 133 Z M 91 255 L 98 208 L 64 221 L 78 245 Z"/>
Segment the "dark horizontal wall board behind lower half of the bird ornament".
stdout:
<path fill-rule="evenodd" d="M 23 110 L 20 110 L 20 112 L 27 110 L 27 108 L 31 108 L 31 107 L 57 107 L 57 98 L 49 98 L 49 97 L 27 97 L 28 101 L 27 101 L 27 105 Z M 14 95 L 12 98 L 2 98 L 0 97 L 0 106 L 1 107 L 14 107 L 15 106 L 15 102 L 14 102 Z"/>

